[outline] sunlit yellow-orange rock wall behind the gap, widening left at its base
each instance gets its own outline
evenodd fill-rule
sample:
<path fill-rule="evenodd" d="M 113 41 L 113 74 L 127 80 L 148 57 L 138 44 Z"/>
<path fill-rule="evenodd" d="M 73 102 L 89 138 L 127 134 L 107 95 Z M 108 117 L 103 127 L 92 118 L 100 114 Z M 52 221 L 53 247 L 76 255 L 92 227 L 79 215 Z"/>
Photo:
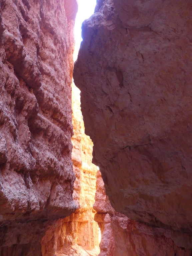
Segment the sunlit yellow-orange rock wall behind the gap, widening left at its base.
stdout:
<path fill-rule="evenodd" d="M 41 241 L 42 256 L 97 256 L 99 229 L 93 209 L 97 167 L 91 163 L 93 143 L 84 133 L 80 109 L 80 91 L 72 84 L 74 135 L 72 161 L 76 176 L 73 198 L 77 210 L 65 219 L 55 221 Z"/>

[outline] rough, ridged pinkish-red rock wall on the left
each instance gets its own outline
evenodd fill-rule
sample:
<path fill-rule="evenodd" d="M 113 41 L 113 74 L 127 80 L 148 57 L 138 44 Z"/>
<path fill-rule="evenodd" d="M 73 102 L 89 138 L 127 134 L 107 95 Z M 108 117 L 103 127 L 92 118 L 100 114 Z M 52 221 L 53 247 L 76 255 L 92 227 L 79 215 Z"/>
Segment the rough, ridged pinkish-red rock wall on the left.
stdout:
<path fill-rule="evenodd" d="M 0 255 L 41 255 L 75 211 L 71 79 L 76 0 L 0 1 Z"/>

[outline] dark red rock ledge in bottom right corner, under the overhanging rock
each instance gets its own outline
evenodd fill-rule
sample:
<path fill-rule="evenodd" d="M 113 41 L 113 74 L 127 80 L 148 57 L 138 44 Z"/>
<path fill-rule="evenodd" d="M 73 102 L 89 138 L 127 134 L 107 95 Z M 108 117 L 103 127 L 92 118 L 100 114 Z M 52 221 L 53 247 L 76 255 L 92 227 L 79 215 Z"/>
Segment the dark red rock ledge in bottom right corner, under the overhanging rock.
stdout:
<path fill-rule="evenodd" d="M 114 256 L 191 255 L 190 249 L 178 247 L 172 239 L 164 236 L 163 229 L 146 226 L 122 214 L 111 217 L 111 227 L 115 242 Z"/>

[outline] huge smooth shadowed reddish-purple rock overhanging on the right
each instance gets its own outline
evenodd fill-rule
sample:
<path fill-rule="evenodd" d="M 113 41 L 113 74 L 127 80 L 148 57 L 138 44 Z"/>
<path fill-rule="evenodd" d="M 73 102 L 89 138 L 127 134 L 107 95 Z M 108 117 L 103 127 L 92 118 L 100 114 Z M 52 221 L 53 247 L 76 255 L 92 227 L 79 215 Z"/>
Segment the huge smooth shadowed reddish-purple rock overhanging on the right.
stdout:
<path fill-rule="evenodd" d="M 192 249 L 191 11 L 190 0 L 98 1 L 74 69 L 111 205 L 184 249 Z"/>

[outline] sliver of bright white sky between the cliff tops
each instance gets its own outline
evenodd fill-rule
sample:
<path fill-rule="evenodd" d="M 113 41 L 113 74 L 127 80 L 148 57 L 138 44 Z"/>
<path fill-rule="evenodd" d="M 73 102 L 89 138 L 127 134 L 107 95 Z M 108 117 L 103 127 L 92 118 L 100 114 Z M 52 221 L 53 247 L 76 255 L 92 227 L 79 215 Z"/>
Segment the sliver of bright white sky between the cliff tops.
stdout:
<path fill-rule="evenodd" d="M 82 41 L 81 24 L 85 19 L 88 19 L 93 13 L 96 5 L 96 0 L 78 0 L 78 12 L 75 19 L 75 51 L 73 55 L 74 61 L 77 59 L 79 47 Z"/>

